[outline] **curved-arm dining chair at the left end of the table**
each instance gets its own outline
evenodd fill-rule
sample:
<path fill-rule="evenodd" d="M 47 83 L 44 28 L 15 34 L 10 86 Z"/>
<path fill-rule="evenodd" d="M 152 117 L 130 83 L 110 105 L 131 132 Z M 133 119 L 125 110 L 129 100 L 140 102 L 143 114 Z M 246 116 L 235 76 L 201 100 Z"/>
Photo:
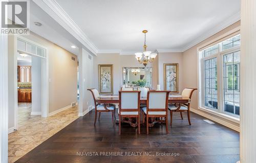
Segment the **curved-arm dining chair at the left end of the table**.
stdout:
<path fill-rule="evenodd" d="M 95 118 L 94 118 L 94 126 L 97 120 L 97 112 L 99 112 L 99 118 L 101 112 L 112 112 L 112 123 L 114 124 L 114 117 L 116 119 L 116 105 L 115 104 L 99 104 L 98 98 L 99 98 L 99 92 L 97 89 L 87 89 L 91 91 L 93 100 L 94 100 L 94 109 L 95 109 Z M 99 119 L 98 119 L 99 120 Z"/>

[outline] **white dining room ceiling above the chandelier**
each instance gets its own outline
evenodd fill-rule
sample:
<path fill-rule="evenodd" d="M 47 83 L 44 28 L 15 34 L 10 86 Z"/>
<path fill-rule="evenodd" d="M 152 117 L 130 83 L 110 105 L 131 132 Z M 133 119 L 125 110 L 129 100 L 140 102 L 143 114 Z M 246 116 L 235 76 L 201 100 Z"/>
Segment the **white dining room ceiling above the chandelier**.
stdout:
<path fill-rule="evenodd" d="M 142 51 L 144 29 L 148 50 L 182 51 L 240 16 L 240 0 L 55 1 L 98 52 Z"/>

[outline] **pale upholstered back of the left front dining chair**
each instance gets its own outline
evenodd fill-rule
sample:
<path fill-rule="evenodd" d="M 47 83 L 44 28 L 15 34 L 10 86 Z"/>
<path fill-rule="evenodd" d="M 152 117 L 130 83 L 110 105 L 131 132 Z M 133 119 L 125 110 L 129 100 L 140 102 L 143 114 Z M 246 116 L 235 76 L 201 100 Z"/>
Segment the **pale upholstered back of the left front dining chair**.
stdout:
<path fill-rule="evenodd" d="M 120 90 L 119 109 L 120 111 L 140 111 L 140 91 Z"/>

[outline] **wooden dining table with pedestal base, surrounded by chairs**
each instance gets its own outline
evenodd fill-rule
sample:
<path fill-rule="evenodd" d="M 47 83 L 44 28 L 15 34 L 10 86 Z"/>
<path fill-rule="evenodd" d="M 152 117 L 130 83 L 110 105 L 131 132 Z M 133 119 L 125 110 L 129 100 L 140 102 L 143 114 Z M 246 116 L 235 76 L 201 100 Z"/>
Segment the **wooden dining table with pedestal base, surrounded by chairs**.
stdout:
<path fill-rule="evenodd" d="M 106 106 L 108 104 L 119 104 L 119 97 L 118 97 L 118 95 L 101 95 L 97 98 L 97 102 L 99 104 L 105 104 Z M 140 104 L 145 106 L 146 102 L 147 102 L 146 97 L 140 97 Z M 181 104 L 189 103 L 189 102 L 190 102 L 190 98 L 184 97 L 184 96 L 181 96 L 181 95 L 169 95 L 169 97 L 168 97 L 168 103 L 177 104 L 177 107 Z M 115 122 L 118 123 L 119 120 L 115 119 Z M 134 120 L 127 120 L 127 121 L 124 121 L 124 122 L 129 123 L 133 127 L 137 126 L 137 123 L 134 123 Z M 163 121 L 158 120 L 158 119 L 152 119 L 149 126 L 152 127 L 156 123 L 159 123 L 159 122 L 162 123 Z"/>

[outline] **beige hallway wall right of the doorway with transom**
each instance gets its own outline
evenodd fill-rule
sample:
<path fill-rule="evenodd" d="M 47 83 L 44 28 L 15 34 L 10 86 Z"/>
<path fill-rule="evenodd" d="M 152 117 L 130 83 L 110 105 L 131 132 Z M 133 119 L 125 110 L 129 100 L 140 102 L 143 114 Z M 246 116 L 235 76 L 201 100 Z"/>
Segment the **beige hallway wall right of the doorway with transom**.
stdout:
<path fill-rule="evenodd" d="M 33 32 L 25 37 L 48 50 L 49 113 L 77 102 L 77 56 Z"/>

